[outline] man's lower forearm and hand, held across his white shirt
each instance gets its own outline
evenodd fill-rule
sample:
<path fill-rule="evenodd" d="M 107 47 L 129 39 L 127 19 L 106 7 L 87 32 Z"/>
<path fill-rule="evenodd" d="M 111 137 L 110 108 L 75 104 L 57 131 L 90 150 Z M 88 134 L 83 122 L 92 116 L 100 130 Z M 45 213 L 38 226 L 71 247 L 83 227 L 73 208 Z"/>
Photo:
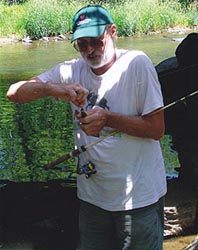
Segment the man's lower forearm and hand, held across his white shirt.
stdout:
<path fill-rule="evenodd" d="M 145 116 L 127 116 L 95 107 L 87 112 L 86 117 L 78 118 L 87 135 L 99 134 L 107 126 L 128 135 L 159 140 L 165 130 L 163 110 Z"/>

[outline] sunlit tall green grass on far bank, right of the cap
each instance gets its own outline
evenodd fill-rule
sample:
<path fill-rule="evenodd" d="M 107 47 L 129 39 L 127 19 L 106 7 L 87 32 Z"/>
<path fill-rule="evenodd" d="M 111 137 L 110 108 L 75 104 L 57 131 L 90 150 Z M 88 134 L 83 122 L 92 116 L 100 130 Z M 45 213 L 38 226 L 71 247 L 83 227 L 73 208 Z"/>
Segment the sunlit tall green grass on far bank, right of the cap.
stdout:
<path fill-rule="evenodd" d="M 164 31 L 175 25 L 187 25 L 181 5 L 176 1 L 125 1 L 122 6 L 111 6 L 110 12 L 117 25 L 118 36 L 148 34 Z"/>

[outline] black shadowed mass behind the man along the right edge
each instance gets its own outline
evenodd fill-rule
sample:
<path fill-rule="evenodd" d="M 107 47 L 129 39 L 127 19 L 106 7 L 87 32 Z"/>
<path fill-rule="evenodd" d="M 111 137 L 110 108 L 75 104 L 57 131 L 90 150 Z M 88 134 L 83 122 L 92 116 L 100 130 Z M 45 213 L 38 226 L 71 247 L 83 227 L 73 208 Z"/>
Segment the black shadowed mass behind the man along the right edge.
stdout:
<path fill-rule="evenodd" d="M 156 66 L 165 104 L 165 133 L 178 153 L 178 178 L 168 182 L 167 231 L 198 232 L 198 33 L 184 38 L 175 57 Z"/>

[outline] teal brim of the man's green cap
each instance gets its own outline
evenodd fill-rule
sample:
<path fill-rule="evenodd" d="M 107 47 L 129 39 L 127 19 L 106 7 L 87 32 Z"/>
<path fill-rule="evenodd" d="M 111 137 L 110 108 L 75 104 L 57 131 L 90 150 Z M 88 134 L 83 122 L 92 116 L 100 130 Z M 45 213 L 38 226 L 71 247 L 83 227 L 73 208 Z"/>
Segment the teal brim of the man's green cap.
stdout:
<path fill-rule="evenodd" d="M 98 37 L 101 36 L 104 33 L 106 24 L 105 25 L 97 25 L 97 26 L 91 26 L 91 27 L 84 27 L 77 29 L 73 34 L 71 38 L 71 42 L 75 41 L 78 38 L 81 37 Z"/>

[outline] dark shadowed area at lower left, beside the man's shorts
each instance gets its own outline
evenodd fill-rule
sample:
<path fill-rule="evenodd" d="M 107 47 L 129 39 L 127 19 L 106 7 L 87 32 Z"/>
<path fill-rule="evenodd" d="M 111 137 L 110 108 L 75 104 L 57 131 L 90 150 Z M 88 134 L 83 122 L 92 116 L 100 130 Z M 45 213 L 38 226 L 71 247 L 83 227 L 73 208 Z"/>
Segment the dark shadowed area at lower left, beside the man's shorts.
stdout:
<path fill-rule="evenodd" d="M 1 188 L 1 249 L 76 250 L 76 188 L 62 184 L 8 182 Z"/>

